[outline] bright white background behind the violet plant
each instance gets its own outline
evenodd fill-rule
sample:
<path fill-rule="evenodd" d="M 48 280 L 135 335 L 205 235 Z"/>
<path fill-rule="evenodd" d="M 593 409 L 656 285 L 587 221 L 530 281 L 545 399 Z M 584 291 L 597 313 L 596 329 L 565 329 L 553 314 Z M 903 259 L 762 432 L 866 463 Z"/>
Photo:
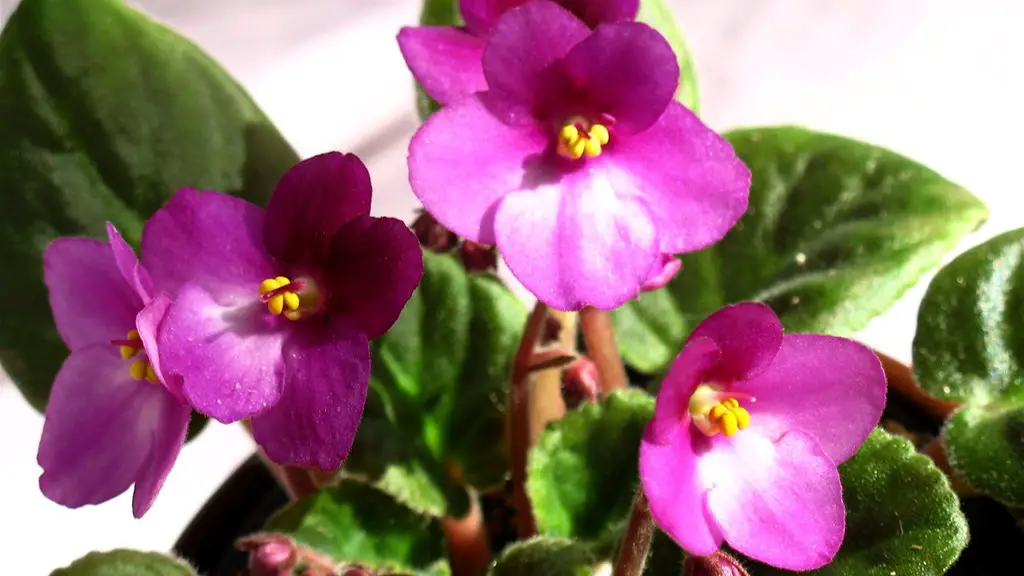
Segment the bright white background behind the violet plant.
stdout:
<path fill-rule="evenodd" d="M 0 17 L 14 3 L 0 0 Z M 416 0 L 134 3 L 219 59 L 303 156 L 361 154 L 377 214 L 412 214 L 403 162 L 416 117 L 393 38 L 418 17 Z M 712 126 L 804 124 L 915 158 L 988 203 L 988 224 L 962 249 L 1024 225 L 1024 7 L 1006 0 L 675 0 L 673 8 Z M 907 360 L 924 286 L 860 337 Z M 44 499 L 35 462 L 41 426 L 0 381 L 4 574 L 45 575 L 90 549 L 166 549 L 251 451 L 239 427 L 211 425 L 184 449 L 150 513 L 135 521 L 130 494 L 79 510 Z"/>

